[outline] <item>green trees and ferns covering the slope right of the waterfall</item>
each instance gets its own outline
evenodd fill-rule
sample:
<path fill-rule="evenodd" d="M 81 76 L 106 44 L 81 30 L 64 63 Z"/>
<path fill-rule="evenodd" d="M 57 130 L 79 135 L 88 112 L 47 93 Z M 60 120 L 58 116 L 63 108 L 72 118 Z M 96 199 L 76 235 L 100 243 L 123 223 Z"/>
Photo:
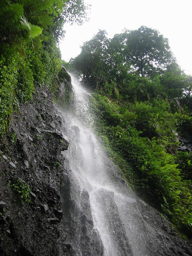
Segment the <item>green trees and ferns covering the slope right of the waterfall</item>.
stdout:
<path fill-rule="evenodd" d="M 192 77 L 168 39 L 144 26 L 112 39 L 100 30 L 81 49 L 68 65 L 94 91 L 97 132 L 109 155 L 134 191 L 190 237 L 192 154 L 179 138 L 191 136 Z"/>

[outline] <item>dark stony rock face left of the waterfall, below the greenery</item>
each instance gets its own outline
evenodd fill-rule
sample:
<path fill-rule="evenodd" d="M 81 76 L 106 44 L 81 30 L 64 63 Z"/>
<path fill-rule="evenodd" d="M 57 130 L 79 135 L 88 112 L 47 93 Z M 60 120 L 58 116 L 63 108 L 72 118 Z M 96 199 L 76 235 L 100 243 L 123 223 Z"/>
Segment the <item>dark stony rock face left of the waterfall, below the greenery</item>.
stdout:
<path fill-rule="evenodd" d="M 0 162 L 0 255 L 60 255 L 60 179 L 68 139 L 64 120 L 48 88 L 20 104 L 4 138 Z M 13 184 L 30 187 L 31 203 L 21 204 Z M 25 195 L 24 195 L 25 196 Z M 25 200 L 24 200 L 25 201 Z"/>

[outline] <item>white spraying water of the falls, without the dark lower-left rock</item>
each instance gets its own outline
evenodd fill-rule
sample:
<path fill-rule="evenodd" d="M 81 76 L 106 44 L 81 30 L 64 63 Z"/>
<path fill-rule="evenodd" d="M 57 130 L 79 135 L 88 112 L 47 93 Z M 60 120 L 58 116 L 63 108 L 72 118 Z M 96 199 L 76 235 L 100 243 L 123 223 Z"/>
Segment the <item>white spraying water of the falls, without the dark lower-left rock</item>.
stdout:
<path fill-rule="evenodd" d="M 104 256 L 152 255 L 146 249 L 146 226 L 135 196 L 92 132 L 93 120 L 97 117 L 92 116 L 89 110 L 91 94 L 73 76 L 71 78 L 74 102 L 71 110 L 62 112 L 70 141 L 64 154 L 72 171 L 71 182 L 75 184 L 71 198 L 75 202 L 75 211 L 78 208 L 80 212 L 74 217 L 76 225 L 79 225 L 78 232 L 82 232 L 80 222 L 82 224 L 86 209 L 86 191 L 89 195 L 86 204 L 91 208 L 94 230 L 100 236 Z M 78 232 L 70 238 L 73 255 L 96 256 L 82 249 L 83 235 Z"/>

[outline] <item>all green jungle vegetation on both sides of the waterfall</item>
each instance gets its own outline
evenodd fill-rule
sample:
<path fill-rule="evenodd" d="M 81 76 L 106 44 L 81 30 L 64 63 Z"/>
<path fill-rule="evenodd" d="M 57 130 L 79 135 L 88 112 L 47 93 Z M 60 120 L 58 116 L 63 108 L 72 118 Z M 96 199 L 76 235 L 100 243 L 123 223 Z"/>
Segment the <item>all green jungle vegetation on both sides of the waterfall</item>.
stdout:
<path fill-rule="evenodd" d="M 65 22 L 87 19 L 84 0 L 2 0 L 0 3 L 0 140 L 20 102 L 35 87 L 56 93 L 59 40 Z M 142 26 L 108 39 L 99 31 L 65 63 L 94 91 L 97 132 L 132 188 L 190 237 L 191 153 L 176 132 L 191 129 L 191 76 L 178 66 L 168 40 Z"/>

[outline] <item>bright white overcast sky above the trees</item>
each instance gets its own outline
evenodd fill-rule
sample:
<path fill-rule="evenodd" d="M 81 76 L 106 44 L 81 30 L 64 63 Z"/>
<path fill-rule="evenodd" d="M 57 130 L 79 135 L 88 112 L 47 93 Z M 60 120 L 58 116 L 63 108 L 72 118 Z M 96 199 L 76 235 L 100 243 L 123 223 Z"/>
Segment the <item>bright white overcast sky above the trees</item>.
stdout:
<path fill-rule="evenodd" d="M 99 29 L 108 37 L 144 25 L 169 39 L 181 69 L 192 74 L 192 0 L 85 0 L 91 4 L 90 20 L 82 26 L 65 25 L 66 36 L 60 43 L 62 59 L 69 61 L 80 52 L 80 45 Z"/>

